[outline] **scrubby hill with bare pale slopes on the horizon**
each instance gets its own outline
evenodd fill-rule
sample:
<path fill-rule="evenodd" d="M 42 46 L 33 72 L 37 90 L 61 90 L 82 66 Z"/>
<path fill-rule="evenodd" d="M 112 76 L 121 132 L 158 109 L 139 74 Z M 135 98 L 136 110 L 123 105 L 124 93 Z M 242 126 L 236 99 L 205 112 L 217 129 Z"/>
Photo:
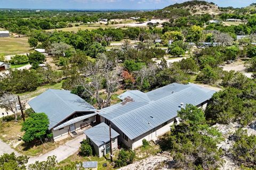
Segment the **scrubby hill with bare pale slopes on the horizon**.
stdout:
<path fill-rule="evenodd" d="M 206 1 L 187 1 L 184 3 L 176 3 L 163 8 L 164 11 L 171 11 L 174 9 L 184 9 L 188 10 L 191 14 L 214 14 L 217 15 L 221 13 L 219 7 L 214 3 L 209 3 Z"/>

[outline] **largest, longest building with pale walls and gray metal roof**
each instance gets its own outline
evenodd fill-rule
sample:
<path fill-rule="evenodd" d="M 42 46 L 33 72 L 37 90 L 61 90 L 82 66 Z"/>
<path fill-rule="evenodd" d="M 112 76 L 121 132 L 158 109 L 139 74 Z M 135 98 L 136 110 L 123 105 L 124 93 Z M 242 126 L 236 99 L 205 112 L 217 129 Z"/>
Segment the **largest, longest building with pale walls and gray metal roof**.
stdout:
<path fill-rule="evenodd" d="M 101 109 L 99 115 L 101 122 L 111 124 L 120 134 L 119 142 L 136 149 L 143 139 L 157 140 L 170 131 L 179 122 L 177 112 L 186 104 L 206 108 L 214 92 L 192 83 L 172 83 L 146 93 L 130 90 L 118 96 L 121 103 Z"/>

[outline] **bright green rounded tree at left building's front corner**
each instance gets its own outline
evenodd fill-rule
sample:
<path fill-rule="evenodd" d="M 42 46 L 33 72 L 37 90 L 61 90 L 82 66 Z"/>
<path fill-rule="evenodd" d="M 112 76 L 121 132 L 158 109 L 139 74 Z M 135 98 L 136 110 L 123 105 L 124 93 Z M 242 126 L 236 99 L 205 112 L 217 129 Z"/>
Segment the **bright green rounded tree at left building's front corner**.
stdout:
<path fill-rule="evenodd" d="M 25 131 L 22 140 L 31 142 L 46 137 L 49 128 L 49 118 L 45 113 L 33 113 L 22 123 L 21 131 Z"/>

